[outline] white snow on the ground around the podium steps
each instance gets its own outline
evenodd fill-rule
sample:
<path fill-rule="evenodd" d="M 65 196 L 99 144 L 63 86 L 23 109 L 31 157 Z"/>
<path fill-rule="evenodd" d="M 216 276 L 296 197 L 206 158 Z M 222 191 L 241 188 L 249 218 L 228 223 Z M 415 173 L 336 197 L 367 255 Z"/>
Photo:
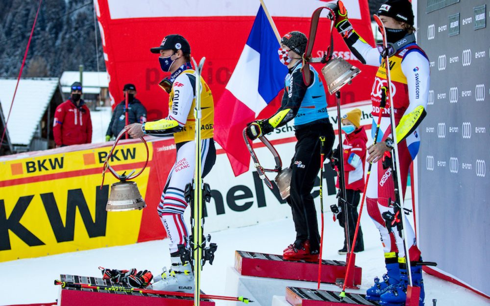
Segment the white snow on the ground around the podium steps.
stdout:
<path fill-rule="evenodd" d="M 364 210 L 362 217 L 365 251 L 358 253 L 356 265 L 363 268 L 361 290 L 371 286 L 375 276 L 384 273 L 383 251 L 379 233 Z M 343 230 L 325 213 L 323 259 L 345 260 L 337 254 L 343 244 Z M 235 250 L 280 254 L 295 237 L 291 218 L 253 226 L 212 233 L 218 244 L 213 265 L 206 264 L 202 273 L 202 290 L 208 294 L 229 295 L 225 292 L 226 271 L 234 265 Z M 170 265 L 168 242 L 155 240 L 133 245 L 66 253 L 35 259 L 20 259 L 0 263 L 0 305 L 48 303 L 57 299 L 59 288 L 53 280 L 60 274 L 100 276 L 98 266 L 106 268 L 149 269 L 154 274 Z M 27 281 L 26 286 L 20 285 Z M 258 279 L 259 281 L 260 279 Z M 484 306 L 490 301 L 466 288 L 442 281 L 424 273 L 426 305 L 437 299 L 440 306 Z M 316 288 L 316 283 L 310 283 Z M 335 285 L 322 284 L 321 289 L 339 290 Z M 216 301 L 217 306 L 233 305 Z"/>

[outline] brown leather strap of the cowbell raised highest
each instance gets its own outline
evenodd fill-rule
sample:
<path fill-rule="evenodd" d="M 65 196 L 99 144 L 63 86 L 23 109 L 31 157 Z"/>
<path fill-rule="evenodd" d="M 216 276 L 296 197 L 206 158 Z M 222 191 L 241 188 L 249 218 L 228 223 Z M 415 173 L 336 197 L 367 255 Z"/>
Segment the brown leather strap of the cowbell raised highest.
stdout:
<path fill-rule="evenodd" d="M 330 25 L 330 47 L 328 47 L 329 50 L 328 56 L 327 54 L 325 54 L 321 59 L 321 62 L 322 63 L 328 62 L 330 59 L 332 59 L 332 55 L 333 55 L 334 36 L 333 36 L 332 29 L 333 29 L 333 25 L 335 24 L 335 12 L 327 6 L 321 6 L 317 8 L 311 16 L 310 31 L 308 34 L 308 43 L 306 45 L 305 53 L 303 54 L 303 66 L 301 70 L 303 72 L 303 81 L 307 86 L 311 82 L 311 71 L 310 71 L 311 52 L 313 51 L 313 44 L 315 43 L 315 37 L 317 36 L 317 28 L 318 28 L 320 13 L 324 8 L 330 11 L 329 13 L 331 14 L 333 20 L 332 20 L 332 24 Z"/>

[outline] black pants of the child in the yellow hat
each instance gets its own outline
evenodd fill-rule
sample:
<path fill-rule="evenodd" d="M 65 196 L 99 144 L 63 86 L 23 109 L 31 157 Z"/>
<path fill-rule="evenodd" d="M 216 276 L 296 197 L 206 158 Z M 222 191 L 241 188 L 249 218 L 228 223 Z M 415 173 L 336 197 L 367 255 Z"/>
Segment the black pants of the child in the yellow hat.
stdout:
<path fill-rule="evenodd" d="M 349 238 L 350 246 L 352 246 L 352 240 L 354 240 L 354 233 L 356 232 L 357 217 L 357 207 L 359 206 L 359 200 L 361 199 L 361 191 L 346 189 L 347 194 L 345 200 L 347 201 L 347 213 L 345 213 L 344 205 L 342 201 L 339 200 L 339 206 L 342 208 L 341 212 L 337 215 L 339 219 L 339 224 L 345 228 L 345 214 L 347 214 L 347 223 L 349 224 Z M 343 241 L 343 249 L 347 248 L 347 241 Z M 363 231 L 361 225 L 359 225 L 359 232 L 357 233 L 356 246 L 354 247 L 355 252 L 364 251 L 364 240 Z"/>

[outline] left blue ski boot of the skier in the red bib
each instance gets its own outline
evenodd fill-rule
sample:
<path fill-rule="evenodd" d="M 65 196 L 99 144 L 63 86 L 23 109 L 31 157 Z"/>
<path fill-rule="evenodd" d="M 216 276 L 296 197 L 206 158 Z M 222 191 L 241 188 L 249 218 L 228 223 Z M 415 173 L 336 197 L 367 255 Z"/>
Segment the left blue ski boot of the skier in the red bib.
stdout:
<path fill-rule="evenodd" d="M 385 262 L 388 272 L 383 275 L 382 282 L 377 277 L 374 279 L 374 285 L 366 291 L 366 300 L 378 302 L 383 293 L 400 282 L 400 268 L 395 252 L 385 253 Z"/>

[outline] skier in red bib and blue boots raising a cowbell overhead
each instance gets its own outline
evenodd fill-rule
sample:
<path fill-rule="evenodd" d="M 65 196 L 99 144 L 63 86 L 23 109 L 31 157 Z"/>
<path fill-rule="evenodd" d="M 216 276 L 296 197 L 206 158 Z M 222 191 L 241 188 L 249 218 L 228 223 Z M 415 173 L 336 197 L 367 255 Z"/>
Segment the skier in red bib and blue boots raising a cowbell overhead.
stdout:
<path fill-rule="evenodd" d="M 412 4 L 408 0 L 388 0 L 381 5 L 378 15 L 385 25 L 387 40 L 390 46 L 391 95 L 393 101 L 387 100 L 383 112 L 380 110 L 381 88 L 388 87 L 385 60 L 377 48 L 369 46 L 353 29 L 347 19 L 347 10 L 341 1 L 337 4 L 327 4 L 335 14 L 335 27 L 343 36 L 350 50 L 363 64 L 377 66 L 378 71 L 371 91 L 373 126 L 372 137 L 376 130 L 378 116 L 381 116 L 378 142 L 368 148 L 367 162 L 373 162 L 371 179 L 367 188 L 367 207 L 369 216 L 381 234 L 385 252 L 385 262 L 388 273 L 384 282 L 375 279 L 375 285 L 368 289 L 367 298 L 379 300 L 382 305 L 392 306 L 405 303 L 407 269 L 403 240 L 398 235 L 396 227 L 390 232 L 383 219 L 383 212 L 393 212 L 389 206 L 394 196 L 394 184 L 391 167 L 384 168 L 381 159 L 393 147 L 390 127 L 389 103 L 394 103 L 394 118 L 396 123 L 397 145 L 402 183 L 402 195 L 407 186 L 408 169 L 415 158 L 419 147 L 417 126 L 425 117 L 429 92 L 429 60 L 424 51 L 416 44 L 414 35 L 414 15 Z M 379 161 L 379 163 L 378 163 Z M 403 200 L 403 199 L 402 199 Z M 404 225 L 407 236 L 405 239 L 410 246 L 409 258 L 412 263 L 412 281 L 421 287 L 420 305 L 423 305 L 424 293 L 421 267 L 415 263 L 420 261 L 420 250 L 417 248 L 414 231 L 405 217 Z M 397 264 L 398 262 L 398 264 Z"/>

